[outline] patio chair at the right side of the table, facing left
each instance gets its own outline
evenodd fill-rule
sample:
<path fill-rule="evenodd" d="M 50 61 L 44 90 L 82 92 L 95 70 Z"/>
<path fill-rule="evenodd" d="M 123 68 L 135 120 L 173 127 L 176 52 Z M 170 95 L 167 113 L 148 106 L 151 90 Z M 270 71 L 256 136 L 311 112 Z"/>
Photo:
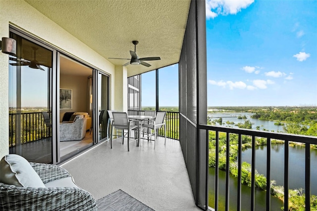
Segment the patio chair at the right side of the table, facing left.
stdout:
<path fill-rule="evenodd" d="M 166 124 L 165 124 L 165 115 L 166 112 L 165 111 L 158 111 L 156 113 L 156 117 L 154 120 L 150 120 L 149 124 L 144 124 L 142 125 L 142 127 L 144 129 L 148 128 L 150 129 L 150 132 L 148 132 L 148 140 L 151 137 L 152 140 L 152 135 L 154 135 L 154 149 L 155 149 L 155 144 L 156 144 L 156 140 L 157 140 L 157 130 L 161 127 L 164 126 L 164 135 L 165 135 L 165 142 L 164 145 L 166 144 Z M 152 131 L 154 131 L 154 134 L 152 133 Z"/>

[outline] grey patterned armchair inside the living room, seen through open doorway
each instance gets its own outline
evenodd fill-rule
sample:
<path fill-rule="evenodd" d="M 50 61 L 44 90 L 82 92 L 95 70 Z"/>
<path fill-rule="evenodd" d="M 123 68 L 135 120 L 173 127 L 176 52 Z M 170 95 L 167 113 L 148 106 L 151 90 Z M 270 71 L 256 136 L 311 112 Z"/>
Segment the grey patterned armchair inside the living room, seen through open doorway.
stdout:
<path fill-rule="evenodd" d="M 60 141 L 82 140 L 86 135 L 86 124 L 87 118 L 84 118 L 83 115 L 76 116 L 72 123 L 60 123 Z"/>

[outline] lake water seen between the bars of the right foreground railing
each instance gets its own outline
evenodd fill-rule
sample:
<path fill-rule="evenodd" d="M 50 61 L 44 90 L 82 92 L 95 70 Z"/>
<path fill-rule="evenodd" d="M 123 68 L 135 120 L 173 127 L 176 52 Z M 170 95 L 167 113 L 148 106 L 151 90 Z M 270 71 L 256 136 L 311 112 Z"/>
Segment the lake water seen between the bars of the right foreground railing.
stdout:
<path fill-rule="evenodd" d="M 256 148 L 256 169 L 260 174 L 266 176 L 266 146 Z M 242 152 L 242 161 L 251 164 L 252 150 L 247 149 Z M 214 206 L 214 170 L 209 168 L 209 206 Z M 275 185 L 284 186 L 284 145 L 271 146 L 271 180 L 275 180 Z M 317 150 L 311 149 L 311 194 L 317 195 Z M 230 211 L 237 210 L 237 178 L 230 174 Z M 305 188 L 305 148 L 289 147 L 289 188 Z M 250 210 L 251 188 L 242 185 L 242 211 Z M 256 211 L 265 210 L 266 192 L 256 190 Z M 219 170 L 219 210 L 224 210 L 225 205 L 225 171 Z M 280 210 L 283 202 L 271 196 L 271 210 Z"/>

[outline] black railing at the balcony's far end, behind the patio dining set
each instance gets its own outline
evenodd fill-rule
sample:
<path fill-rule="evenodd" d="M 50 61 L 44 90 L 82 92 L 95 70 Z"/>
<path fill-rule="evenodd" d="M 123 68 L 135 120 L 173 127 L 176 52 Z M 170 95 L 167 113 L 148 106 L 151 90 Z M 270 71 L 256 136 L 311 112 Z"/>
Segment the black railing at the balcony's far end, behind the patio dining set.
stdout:
<path fill-rule="evenodd" d="M 129 115 L 144 115 L 144 110 L 128 110 Z M 179 112 L 166 111 L 166 138 L 179 140 Z M 159 128 L 159 136 L 164 136 L 164 129 Z"/>

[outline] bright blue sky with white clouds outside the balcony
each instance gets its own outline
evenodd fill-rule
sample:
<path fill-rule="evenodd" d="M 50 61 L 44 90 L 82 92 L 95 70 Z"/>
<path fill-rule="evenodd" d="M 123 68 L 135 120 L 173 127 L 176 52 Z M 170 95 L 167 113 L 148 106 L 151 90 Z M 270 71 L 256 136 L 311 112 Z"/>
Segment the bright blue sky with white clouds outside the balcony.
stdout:
<path fill-rule="evenodd" d="M 206 19 L 208 106 L 317 106 L 317 0 L 207 0 Z M 176 83 L 160 90 L 160 106 L 178 106 Z"/>

